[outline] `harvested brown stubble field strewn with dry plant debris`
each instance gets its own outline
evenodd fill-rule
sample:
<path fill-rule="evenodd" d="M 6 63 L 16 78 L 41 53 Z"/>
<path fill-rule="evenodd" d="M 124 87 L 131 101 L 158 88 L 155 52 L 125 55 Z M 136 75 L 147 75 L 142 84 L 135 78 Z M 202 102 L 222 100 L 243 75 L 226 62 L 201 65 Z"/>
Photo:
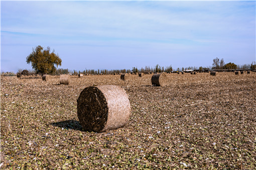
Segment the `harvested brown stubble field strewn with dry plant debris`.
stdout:
<path fill-rule="evenodd" d="M 255 169 L 256 72 L 1 76 L 1 169 Z M 83 131 L 77 98 L 87 86 L 125 89 L 124 127 Z"/>

